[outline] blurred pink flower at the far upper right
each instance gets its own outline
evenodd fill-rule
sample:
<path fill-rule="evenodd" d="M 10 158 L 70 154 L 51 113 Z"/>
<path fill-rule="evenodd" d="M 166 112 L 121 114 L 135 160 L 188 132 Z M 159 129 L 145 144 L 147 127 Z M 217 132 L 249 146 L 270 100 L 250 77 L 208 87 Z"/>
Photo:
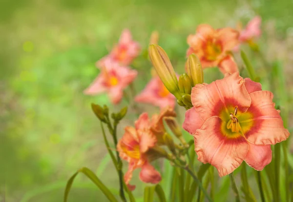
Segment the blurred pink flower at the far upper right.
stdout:
<path fill-rule="evenodd" d="M 252 20 L 250 20 L 246 26 L 245 29 L 242 30 L 240 28 L 240 35 L 239 35 L 239 41 L 241 43 L 248 43 L 251 48 L 256 48 L 256 44 L 254 43 L 254 40 L 261 35 L 261 17 L 255 16 Z M 235 46 L 233 49 L 234 51 L 239 50 L 239 45 Z"/>

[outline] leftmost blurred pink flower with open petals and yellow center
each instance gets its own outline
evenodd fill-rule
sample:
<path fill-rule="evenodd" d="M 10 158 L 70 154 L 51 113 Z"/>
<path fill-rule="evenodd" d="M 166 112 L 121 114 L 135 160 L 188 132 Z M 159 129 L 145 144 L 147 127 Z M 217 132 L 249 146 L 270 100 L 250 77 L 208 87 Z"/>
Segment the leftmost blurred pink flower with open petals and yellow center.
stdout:
<path fill-rule="evenodd" d="M 123 90 L 134 81 L 137 71 L 119 63 L 106 60 L 101 74 L 84 90 L 87 95 L 97 95 L 107 92 L 114 104 L 119 103 L 123 97 Z"/>

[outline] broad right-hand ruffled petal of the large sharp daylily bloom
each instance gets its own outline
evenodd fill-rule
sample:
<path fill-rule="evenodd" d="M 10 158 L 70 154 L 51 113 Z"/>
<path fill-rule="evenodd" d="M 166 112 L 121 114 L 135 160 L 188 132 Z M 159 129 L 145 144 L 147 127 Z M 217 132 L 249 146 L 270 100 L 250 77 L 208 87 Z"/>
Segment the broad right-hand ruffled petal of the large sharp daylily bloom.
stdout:
<path fill-rule="evenodd" d="M 250 94 L 251 107 L 247 110 L 253 116 L 252 127 L 245 134 L 253 144 L 276 144 L 285 141 L 290 133 L 284 128 L 283 120 L 274 108 L 270 91 L 256 91 Z"/>

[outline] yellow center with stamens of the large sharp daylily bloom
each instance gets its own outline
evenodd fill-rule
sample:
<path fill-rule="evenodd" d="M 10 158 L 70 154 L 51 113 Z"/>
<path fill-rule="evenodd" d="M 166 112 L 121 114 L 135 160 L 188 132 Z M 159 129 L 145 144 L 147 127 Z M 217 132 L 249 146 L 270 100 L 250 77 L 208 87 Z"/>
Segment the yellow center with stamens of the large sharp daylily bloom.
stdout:
<path fill-rule="evenodd" d="M 222 134 L 228 138 L 244 136 L 253 125 L 252 114 L 250 112 L 242 113 L 238 111 L 237 106 L 224 108 L 220 113 L 220 118 L 222 119 Z"/>

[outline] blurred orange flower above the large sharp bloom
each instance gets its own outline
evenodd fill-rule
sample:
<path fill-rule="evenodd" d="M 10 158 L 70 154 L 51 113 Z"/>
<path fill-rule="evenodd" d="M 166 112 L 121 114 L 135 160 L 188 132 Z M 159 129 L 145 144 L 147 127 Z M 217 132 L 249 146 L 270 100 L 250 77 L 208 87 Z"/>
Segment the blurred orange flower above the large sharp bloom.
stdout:
<path fill-rule="evenodd" d="M 213 29 L 209 24 L 200 24 L 195 35 L 189 35 L 187 56 L 194 53 L 203 68 L 218 66 L 220 71 L 234 73 L 237 64 L 229 54 L 238 43 L 239 32 L 232 28 Z"/>

